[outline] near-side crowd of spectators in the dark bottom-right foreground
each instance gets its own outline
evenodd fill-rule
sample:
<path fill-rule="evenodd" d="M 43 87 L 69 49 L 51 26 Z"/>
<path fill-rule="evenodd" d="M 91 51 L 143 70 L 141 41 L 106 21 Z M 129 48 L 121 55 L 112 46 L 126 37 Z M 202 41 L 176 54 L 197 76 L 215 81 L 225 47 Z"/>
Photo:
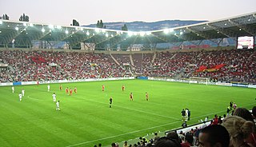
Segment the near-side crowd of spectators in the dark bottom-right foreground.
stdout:
<path fill-rule="evenodd" d="M 254 147 L 256 146 L 256 106 L 252 113 L 245 108 L 234 109 L 233 115 L 226 117 L 218 115 L 206 125 L 206 121 L 198 127 L 182 130 L 174 130 L 166 133 L 166 136 L 160 137 L 154 133 L 154 137 L 139 137 L 135 144 L 128 145 L 124 141 L 123 147 L 190 147 L 190 146 L 222 146 L 222 147 Z M 97 145 L 96 145 L 97 146 Z M 112 143 L 112 147 L 121 146 L 118 143 Z"/>

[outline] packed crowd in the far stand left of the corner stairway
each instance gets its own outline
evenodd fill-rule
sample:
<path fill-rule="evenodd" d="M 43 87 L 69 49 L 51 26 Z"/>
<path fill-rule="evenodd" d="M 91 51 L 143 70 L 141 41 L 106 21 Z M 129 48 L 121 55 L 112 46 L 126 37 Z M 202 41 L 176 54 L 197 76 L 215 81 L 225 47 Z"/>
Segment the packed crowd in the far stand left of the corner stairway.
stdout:
<path fill-rule="evenodd" d="M 0 56 L 2 63 L 12 67 L 12 70 L 1 71 L 2 82 L 122 77 L 125 74 L 125 70 L 106 54 L 7 50 L 1 51 Z"/>

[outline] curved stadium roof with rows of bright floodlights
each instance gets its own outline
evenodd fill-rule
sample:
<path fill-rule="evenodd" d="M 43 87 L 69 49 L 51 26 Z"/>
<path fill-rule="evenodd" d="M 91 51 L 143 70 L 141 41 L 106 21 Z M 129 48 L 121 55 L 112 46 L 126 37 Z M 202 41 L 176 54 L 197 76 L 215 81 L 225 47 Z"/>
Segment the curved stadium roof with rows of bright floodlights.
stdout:
<path fill-rule="evenodd" d="M 32 46 L 33 41 L 67 42 L 78 46 L 80 42 L 97 45 L 108 44 L 109 48 L 118 44 L 149 44 L 194 42 L 210 40 L 216 44 L 222 38 L 256 35 L 256 12 L 212 22 L 190 26 L 179 26 L 165 30 L 130 32 L 107 30 L 82 26 L 56 26 L 33 22 L 0 20 L 0 46 Z"/>

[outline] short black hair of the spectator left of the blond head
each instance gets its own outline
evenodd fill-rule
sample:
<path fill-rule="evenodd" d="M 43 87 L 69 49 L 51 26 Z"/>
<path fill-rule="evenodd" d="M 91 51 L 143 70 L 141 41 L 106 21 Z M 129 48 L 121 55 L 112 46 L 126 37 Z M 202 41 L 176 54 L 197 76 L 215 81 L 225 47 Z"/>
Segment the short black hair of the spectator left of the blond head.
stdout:
<path fill-rule="evenodd" d="M 214 146 L 218 142 L 222 144 L 222 147 L 229 147 L 230 145 L 230 134 L 222 125 L 206 126 L 206 128 L 201 129 L 200 133 L 208 134 L 207 141 L 210 142 L 211 146 Z"/>

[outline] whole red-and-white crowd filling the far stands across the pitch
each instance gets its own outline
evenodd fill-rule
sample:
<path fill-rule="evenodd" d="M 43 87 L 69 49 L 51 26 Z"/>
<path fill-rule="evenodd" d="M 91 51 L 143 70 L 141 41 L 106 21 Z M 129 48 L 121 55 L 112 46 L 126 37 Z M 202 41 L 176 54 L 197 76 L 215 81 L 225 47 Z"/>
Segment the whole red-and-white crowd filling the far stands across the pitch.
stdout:
<path fill-rule="evenodd" d="M 214 81 L 256 83 L 254 50 L 218 50 L 199 52 L 157 52 L 154 54 L 109 54 L 46 51 L 0 51 L 0 81 L 46 81 L 83 78 L 123 77 L 210 77 Z M 133 62 L 133 64 L 131 63 Z M 225 65 L 217 70 L 211 69 Z"/>

